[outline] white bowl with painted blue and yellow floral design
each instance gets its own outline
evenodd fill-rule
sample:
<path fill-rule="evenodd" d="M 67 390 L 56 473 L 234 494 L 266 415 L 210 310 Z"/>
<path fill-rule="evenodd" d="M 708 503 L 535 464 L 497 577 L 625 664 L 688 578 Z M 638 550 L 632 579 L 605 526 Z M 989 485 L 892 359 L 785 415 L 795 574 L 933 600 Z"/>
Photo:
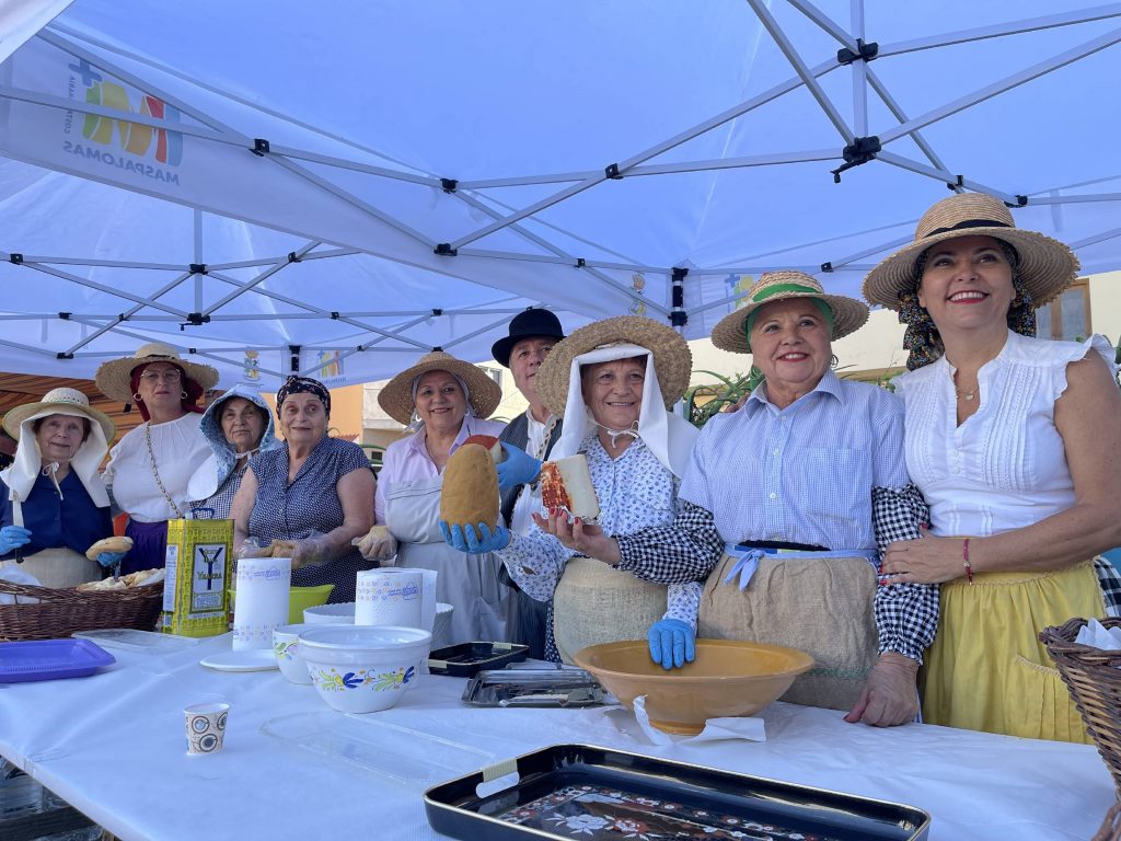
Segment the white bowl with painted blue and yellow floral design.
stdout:
<path fill-rule="evenodd" d="M 299 635 L 300 654 L 321 697 L 340 712 L 388 710 L 416 683 L 432 649 L 418 628 L 314 628 Z"/>

